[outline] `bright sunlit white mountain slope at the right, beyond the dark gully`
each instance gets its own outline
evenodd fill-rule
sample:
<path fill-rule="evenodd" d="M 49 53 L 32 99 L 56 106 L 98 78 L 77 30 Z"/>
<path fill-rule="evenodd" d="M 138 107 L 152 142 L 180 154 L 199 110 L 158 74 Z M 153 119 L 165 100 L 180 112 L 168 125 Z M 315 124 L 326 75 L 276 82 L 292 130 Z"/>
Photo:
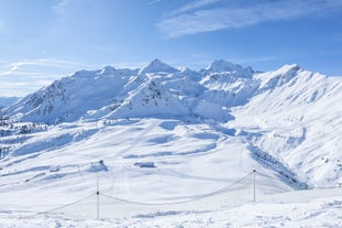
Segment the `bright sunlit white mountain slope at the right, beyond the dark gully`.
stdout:
<path fill-rule="evenodd" d="M 287 65 L 254 76 L 260 87 L 243 107 L 231 109 L 231 128 L 307 178 L 313 186 L 342 182 L 342 78 Z"/>

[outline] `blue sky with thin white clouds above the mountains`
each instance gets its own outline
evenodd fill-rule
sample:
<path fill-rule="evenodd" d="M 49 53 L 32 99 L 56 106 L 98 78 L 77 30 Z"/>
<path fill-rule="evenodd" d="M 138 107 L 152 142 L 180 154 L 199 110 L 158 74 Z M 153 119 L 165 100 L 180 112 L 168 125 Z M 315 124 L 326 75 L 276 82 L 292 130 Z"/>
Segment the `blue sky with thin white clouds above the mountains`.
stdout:
<path fill-rule="evenodd" d="M 342 75 L 342 0 L 0 0 L 0 96 L 154 58 Z"/>

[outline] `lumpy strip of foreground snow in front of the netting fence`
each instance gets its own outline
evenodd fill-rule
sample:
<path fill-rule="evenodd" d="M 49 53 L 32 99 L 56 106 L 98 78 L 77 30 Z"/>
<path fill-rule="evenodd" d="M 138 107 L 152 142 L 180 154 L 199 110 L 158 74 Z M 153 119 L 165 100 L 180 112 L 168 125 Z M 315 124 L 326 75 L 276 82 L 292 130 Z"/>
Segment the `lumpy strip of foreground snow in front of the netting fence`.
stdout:
<path fill-rule="evenodd" d="M 302 194 L 301 194 L 302 193 Z M 133 218 L 66 219 L 45 216 L 22 218 L 1 211 L 1 227 L 341 227 L 342 194 L 310 189 L 275 195 L 268 202 L 249 203 L 210 211 L 165 211 Z"/>

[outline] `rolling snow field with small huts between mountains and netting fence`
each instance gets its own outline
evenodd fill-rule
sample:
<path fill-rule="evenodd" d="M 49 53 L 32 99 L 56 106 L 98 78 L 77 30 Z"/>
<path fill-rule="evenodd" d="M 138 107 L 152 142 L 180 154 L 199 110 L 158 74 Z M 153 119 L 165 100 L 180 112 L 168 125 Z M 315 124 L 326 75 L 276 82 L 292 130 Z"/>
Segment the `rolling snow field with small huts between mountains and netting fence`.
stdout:
<path fill-rule="evenodd" d="M 242 142 L 217 132 L 212 126 L 185 124 L 179 120 L 64 123 L 47 132 L 34 133 L 19 150 L 27 150 L 25 153 L 14 152 L 15 156 L 2 161 L 0 199 L 8 210 L 43 211 L 93 194 L 99 176 L 101 193 L 107 196 L 146 204 L 177 203 L 222 189 L 254 169 L 274 178 L 271 184 L 265 178 L 258 191 L 293 189 L 278 181 L 276 172 L 255 161 Z M 32 148 L 41 149 L 41 152 L 30 153 Z M 227 156 L 230 159 L 224 159 Z M 134 165 L 136 162 L 154 162 L 156 167 L 142 169 Z M 32 164 L 40 165 L 32 167 Z M 227 189 L 228 195 L 235 192 L 234 197 L 219 194 L 209 200 L 174 209 L 219 208 L 233 198 L 251 202 L 252 180 L 244 181 L 241 186 Z M 273 186 L 274 181 L 278 186 Z M 115 207 L 118 202 L 107 204 Z M 126 216 L 134 211 L 132 207 L 136 205 L 129 204 L 126 209 L 120 207 L 119 211 Z M 155 209 L 158 210 L 159 205 L 135 211 L 144 214 Z M 115 210 L 118 208 L 111 209 Z"/>

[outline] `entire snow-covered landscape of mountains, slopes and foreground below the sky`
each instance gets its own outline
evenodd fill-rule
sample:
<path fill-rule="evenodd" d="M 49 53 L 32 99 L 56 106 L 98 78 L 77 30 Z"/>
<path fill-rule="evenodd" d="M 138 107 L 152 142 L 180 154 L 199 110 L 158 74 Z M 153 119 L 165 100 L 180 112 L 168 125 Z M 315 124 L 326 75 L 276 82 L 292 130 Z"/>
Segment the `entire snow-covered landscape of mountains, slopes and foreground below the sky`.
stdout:
<path fill-rule="evenodd" d="M 154 59 L 3 100 L 2 227 L 342 226 L 340 77 Z"/>

